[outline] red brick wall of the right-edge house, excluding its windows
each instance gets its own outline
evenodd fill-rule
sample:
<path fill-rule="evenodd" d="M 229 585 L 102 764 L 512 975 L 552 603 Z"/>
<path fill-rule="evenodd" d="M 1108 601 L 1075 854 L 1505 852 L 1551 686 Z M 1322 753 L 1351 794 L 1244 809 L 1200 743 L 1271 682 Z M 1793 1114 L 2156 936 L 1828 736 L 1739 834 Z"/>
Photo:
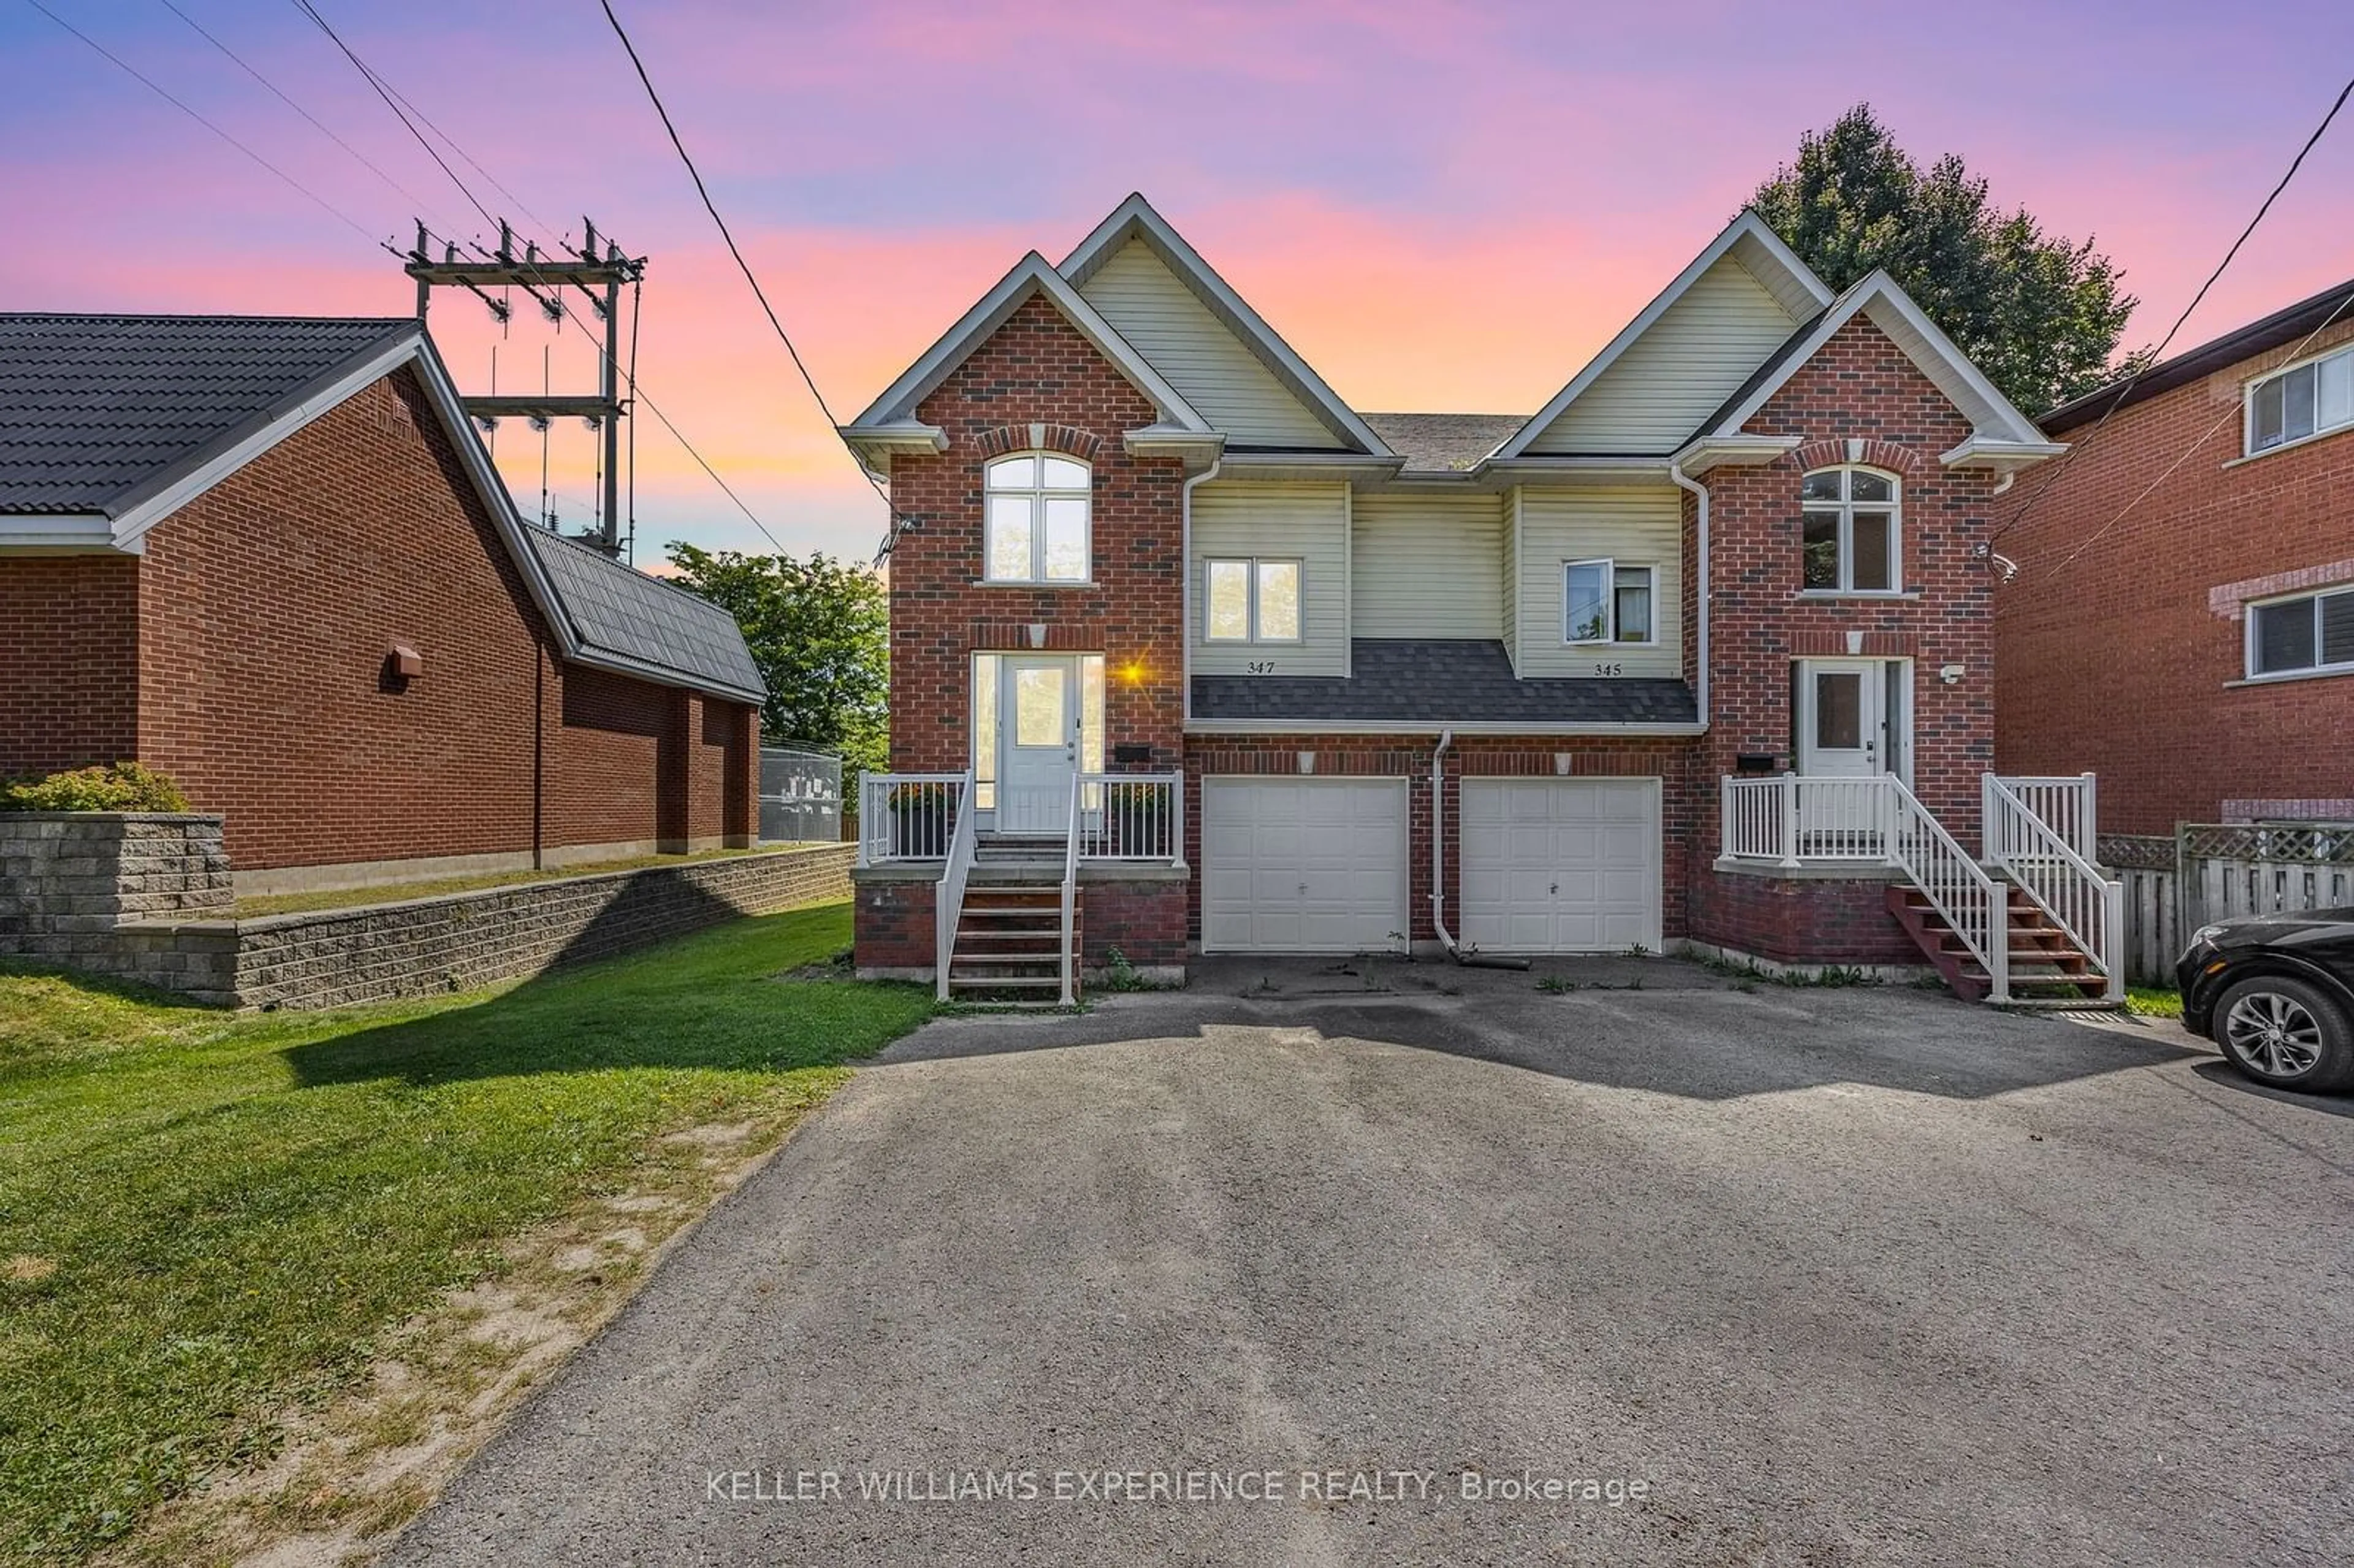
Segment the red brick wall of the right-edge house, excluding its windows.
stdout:
<path fill-rule="evenodd" d="M 2326 327 L 2305 356 L 2354 341 Z M 2060 431 L 2003 497 L 1996 760 L 2100 775 L 2100 826 L 2354 815 L 2354 678 L 2239 685 L 2243 600 L 2354 582 L 2354 431 L 2241 459 L 2243 386 L 2298 344 Z M 2302 358 L 2302 356 L 2300 356 Z M 2309 805 L 2307 805 L 2309 803 Z"/>

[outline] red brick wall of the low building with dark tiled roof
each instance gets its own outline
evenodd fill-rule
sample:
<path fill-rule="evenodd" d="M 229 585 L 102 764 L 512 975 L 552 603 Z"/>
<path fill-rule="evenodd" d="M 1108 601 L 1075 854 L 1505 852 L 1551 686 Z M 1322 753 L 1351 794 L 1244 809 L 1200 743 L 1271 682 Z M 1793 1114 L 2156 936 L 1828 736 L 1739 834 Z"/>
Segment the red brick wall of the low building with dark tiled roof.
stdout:
<path fill-rule="evenodd" d="M 417 678 L 388 678 L 395 643 Z M 749 841 L 753 725 L 556 657 L 407 370 L 141 558 L 0 558 L 0 775 L 162 768 L 226 815 L 240 871 Z"/>

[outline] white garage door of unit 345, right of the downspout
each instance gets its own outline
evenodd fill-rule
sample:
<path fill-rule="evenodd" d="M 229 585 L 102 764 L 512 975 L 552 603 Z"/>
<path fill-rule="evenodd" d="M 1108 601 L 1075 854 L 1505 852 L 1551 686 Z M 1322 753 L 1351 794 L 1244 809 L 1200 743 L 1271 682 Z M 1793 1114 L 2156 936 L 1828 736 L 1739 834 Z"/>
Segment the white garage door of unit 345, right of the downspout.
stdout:
<path fill-rule="evenodd" d="M 1462 939 L 1660 951 L 1660 779 L 1464 779 Z"/>

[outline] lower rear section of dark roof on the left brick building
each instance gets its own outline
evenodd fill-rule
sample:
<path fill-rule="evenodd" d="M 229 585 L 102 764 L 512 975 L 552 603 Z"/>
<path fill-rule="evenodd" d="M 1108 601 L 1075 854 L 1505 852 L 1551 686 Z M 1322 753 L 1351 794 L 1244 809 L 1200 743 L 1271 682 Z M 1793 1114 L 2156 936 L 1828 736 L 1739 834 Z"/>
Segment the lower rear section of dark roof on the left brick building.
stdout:
<path fill-rule="evenodd" d="M 546 527 L 523 539 L 586 652 L 760 702 L 767 685 L 732 614 Z"/>

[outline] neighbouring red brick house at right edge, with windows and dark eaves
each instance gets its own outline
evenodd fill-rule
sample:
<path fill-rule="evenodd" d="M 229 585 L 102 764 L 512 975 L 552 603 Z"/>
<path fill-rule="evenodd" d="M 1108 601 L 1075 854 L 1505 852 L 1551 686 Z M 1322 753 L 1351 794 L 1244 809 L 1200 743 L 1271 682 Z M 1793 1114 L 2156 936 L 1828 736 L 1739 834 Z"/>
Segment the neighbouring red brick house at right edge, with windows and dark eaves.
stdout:
<path fill-rule="evenodd" d="M 2053 410 L 2003 501 L 1996 758 L 2102 826 L 2354 822 L 2354 283 Z"/>

